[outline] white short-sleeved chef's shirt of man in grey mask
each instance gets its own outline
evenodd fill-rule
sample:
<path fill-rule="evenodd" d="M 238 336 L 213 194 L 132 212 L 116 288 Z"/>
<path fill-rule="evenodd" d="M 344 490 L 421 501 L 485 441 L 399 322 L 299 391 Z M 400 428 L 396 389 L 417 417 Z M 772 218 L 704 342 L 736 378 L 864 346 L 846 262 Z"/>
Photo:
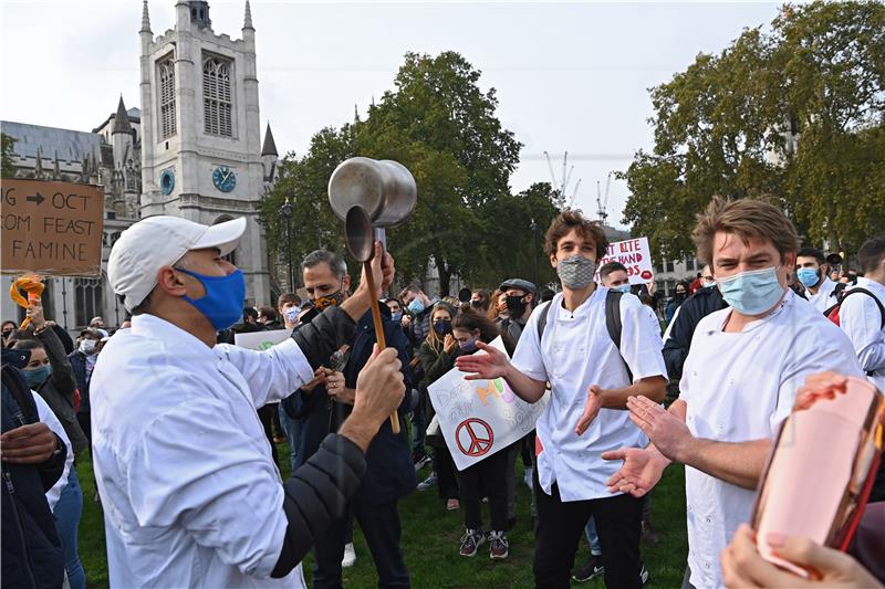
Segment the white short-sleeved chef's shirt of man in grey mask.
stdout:
<path fill-rule="evenodd" d="M 631 294 L 621 297 L 623 348 L 618 353 L 605 327 L 607 293 L 608 288 L 597 286 L 574 314 L 563 308 L 562 293 L 556 294 L 549 303 L 543 343 L 538 339 L 541 305 L 525 324 L 513 353 L 518 370 L 535 380 L 549 381 L 552 387 L 550 403 L 537 423 L 543 445 L 538 456 L 538 476 L 548 494 L 553 483 L 558 483 L 563 502 L 611 497 L 605 481 L 621 464 L 602 460 L 601 454 L 648 443 L 648 438 L 629 420 L 629 412 L 616 409 L 601 409 L 579 437 L 574 428 L 584 412 L 590 386 L 603 389 L 629 386 L 625 360 L 634 382 L 667 375 L 660 336 L 652 330 L 643 304 Z"/>

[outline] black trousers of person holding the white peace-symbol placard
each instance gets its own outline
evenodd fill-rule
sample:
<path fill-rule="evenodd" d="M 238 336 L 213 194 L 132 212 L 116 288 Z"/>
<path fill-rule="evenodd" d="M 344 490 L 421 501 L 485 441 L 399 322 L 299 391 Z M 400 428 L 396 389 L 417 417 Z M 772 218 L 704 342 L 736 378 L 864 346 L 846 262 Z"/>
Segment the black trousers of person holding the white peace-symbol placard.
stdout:
<path fill-rule="evenodd" d="M 507 449 L 458 473 L 464 523 L 468 529 L 482 529 L 482 497 L 489 497 L 491 529 L 507 530 Z"/>

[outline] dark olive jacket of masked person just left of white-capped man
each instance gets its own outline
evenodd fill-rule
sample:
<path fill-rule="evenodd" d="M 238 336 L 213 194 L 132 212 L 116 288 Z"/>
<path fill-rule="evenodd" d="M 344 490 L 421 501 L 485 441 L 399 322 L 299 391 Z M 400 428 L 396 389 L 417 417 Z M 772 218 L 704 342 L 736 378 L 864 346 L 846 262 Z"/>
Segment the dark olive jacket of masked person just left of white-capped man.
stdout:
<path fill-rule="evenodd" d="M 37 338 L 46 348 L 49 364 L 52 366 L 52 375 L 37 389 L 37 392 L 61 421 L 64 433 L 71 440 L 74 454 L 80 454 L 88 448 L 90 443 L 76 420 L 76 413 L 74 413 L 74 391 L 77 387 L 73 368 L 71 368 L 71 362 L 55 332 L 45 329 Z"/>

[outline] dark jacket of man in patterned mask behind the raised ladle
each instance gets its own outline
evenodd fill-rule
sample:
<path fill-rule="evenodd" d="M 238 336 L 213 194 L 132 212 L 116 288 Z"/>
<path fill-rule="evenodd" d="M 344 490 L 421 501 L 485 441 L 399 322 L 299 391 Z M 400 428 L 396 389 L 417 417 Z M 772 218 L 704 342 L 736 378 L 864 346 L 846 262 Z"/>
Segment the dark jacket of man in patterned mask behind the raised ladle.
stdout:
<path fill-rule="evenodd" d="M 296 334 L 300 332 L 299 329 Z M 384 322 L 384 335 L 387 347 L 396 348 L 399 354 L 406 390 L 409 390 L 412 376 L 408 368 L 408 340 L 399 325 L 389 320 Z M 356 325 L 350 358 L 343 369 L 347 388 L 356 388 L 356 377 L 372 356 L 374 344 L 375 327 L 372 314 L 366 313 Z M 408 399 L 404 399 L 399 408 L 399 434 L 394 435 L 389 420 L 385 420 L 366 452 L 366 474 L 358 493 L 366 493 L 375 504 L 396 501 L 415 488 L 415 467 L 407 429 L 402 418 L 407 404 Z M 282 406 L 289 417 L 302 420 L 299 455 L 303 461 L 316 453 L 323 439 L 329 433 L 336 432 L 352 410 L 351 406 L 333 402 L 324 387 L 316 387 L 311 392 L 299 390 L 283 399 Z"/>

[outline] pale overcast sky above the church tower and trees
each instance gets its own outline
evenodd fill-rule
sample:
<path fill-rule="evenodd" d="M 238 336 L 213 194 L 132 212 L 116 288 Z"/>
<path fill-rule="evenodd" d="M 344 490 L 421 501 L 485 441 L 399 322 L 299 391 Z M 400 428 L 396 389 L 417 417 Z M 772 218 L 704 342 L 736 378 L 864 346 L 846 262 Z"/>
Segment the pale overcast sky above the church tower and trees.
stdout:
<path fill-rule="evenodd" d="M 211 1 L 217 34 L 241 36 L 244 0 Z M 652 146 L 647 88 L 719 52 L 778 2 L 301 2 L 253 0 L 262 120 L 280 154 L 303 154 L 325 126 L 365 114 L 393 87 L 407 51 L 454 50 L 498 91 L 498 116 L 524 144 L 511 185 L 558 181 L 595 215 L 596 181 Z M 174 27 L 175 0 L 150 0 L 154 35 Z M 91 130 L 138 96 L 142 2 L 0 0 L 0 118 Z M 612 182 L 610 222 L 627 189 Z"/>

